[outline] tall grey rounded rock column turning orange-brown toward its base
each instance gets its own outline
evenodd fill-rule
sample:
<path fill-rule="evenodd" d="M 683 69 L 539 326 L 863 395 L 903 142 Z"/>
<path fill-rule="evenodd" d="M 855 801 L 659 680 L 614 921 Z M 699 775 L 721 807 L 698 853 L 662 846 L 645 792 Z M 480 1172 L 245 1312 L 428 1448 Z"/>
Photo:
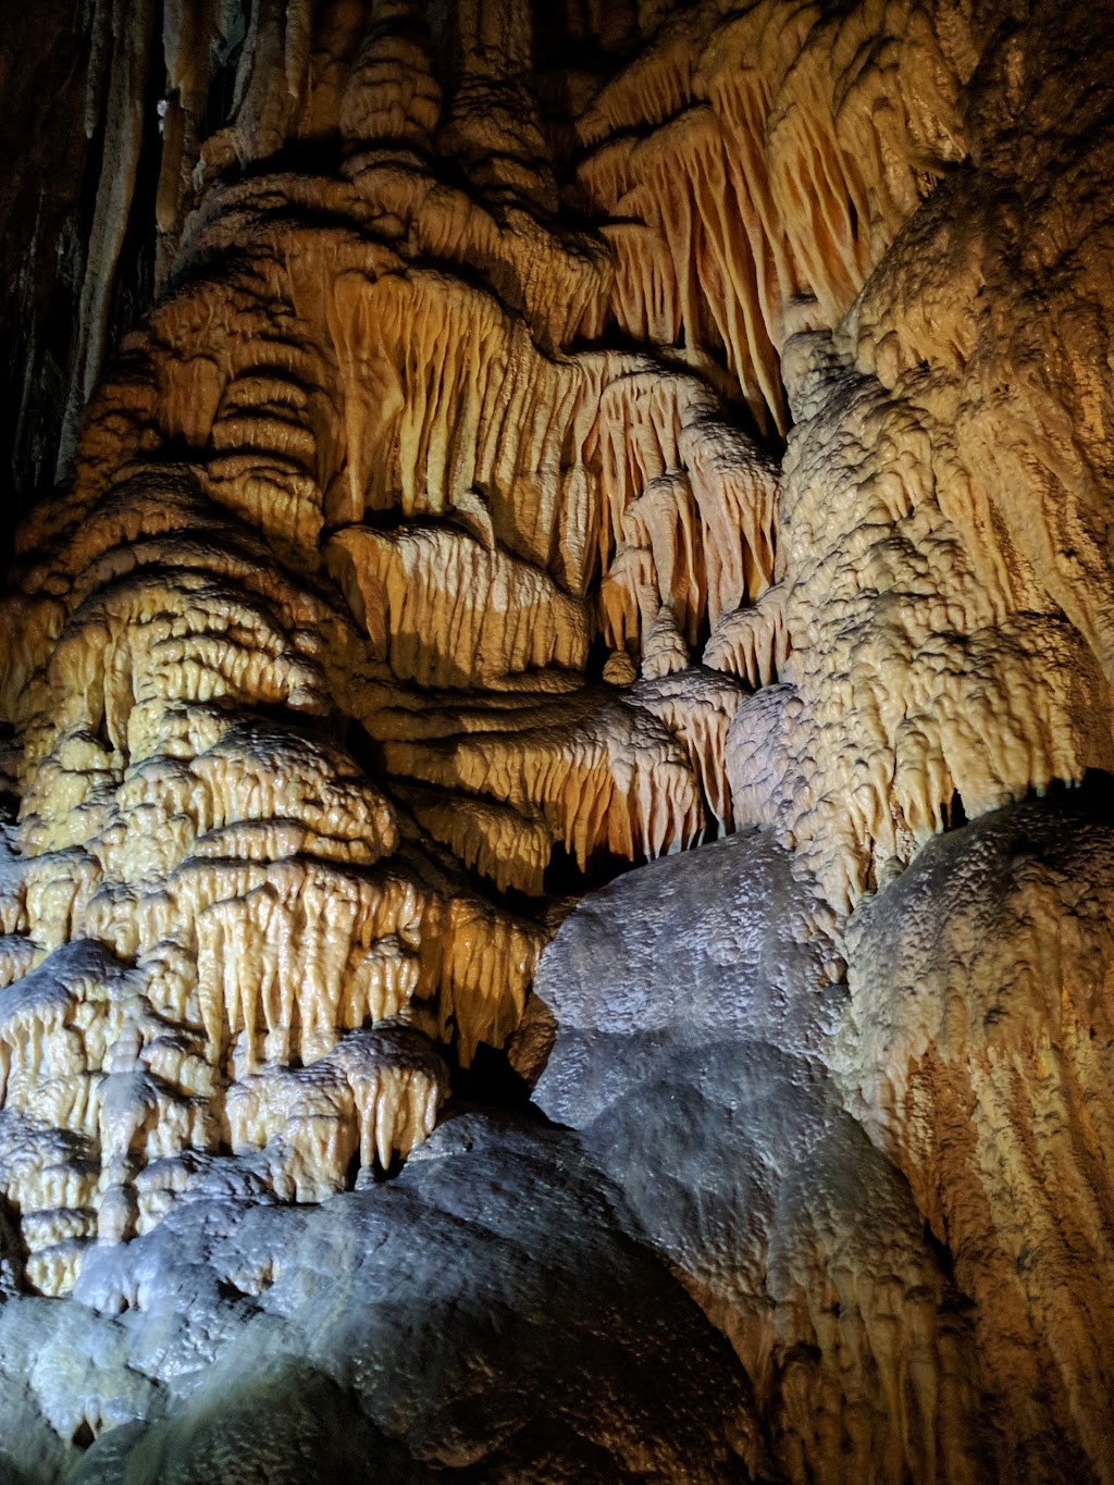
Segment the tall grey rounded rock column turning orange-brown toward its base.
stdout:
<path fill-rule="evenodd" d="M 977 1356 L 905 1176 L 830 1075 L 842 959 L 789 854 L 747 830 L 631 872 L 566 919 L 538 995 L 556 1035 L 535 1099 L 731 1338 L 755 1475 L 977 1478 Z"/>

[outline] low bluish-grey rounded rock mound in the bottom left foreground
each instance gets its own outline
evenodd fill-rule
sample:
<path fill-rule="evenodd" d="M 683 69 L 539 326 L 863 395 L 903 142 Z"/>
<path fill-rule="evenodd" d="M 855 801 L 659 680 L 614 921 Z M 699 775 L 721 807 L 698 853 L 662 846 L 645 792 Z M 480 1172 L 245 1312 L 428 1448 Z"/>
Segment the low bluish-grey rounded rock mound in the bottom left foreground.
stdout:
<path fill-rule="evenodd" d="M 74 1481 L 746 1479 L 726 1342 L 570 1136 L 480 1114 L 322 1207 L 180 1206 L 4 1305 L 0 1357 L 27 1482 L 113 1424 Z"/>

